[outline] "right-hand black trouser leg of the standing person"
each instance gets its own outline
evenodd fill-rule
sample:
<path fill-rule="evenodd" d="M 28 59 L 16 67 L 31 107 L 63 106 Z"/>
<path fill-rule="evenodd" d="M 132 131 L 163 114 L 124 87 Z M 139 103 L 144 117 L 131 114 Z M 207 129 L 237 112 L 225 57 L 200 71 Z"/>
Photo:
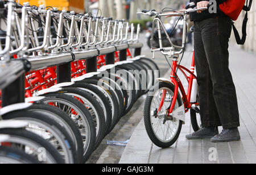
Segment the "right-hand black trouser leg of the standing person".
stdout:
<path fill-rule="evenodd" d="M 201 22 L 201 34 L 213 83 L 213 98 L 224 130 L 240 126 L 236 88 L 229 70 L 231 20 L 225 17 Z"/>

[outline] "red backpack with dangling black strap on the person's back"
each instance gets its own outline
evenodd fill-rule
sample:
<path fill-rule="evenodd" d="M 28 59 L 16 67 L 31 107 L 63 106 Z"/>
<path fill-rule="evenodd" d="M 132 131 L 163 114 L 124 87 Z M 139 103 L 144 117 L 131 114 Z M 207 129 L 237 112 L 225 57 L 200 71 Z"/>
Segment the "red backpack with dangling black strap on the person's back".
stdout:
<path fill-rule="evenodd" d="M 245 5 L 246 2 L 246 5 Z M 237 44 L 243 45 L 245 44 L 246 40 L 246 26 L 247 26 L 247 21 L 248 21 L 248 11 L 251 9 L 251 4 L 253 0 L 227 0 L 224 3 L 220 4 L 220 10 L 224 12 L 227 16 L 229 16 L 230 19 L 232 20 L 237 20 L 238 16 L 241 14 L 242 10 L 246 11 L 245 14 L 245 19 L 243 19 L 243 26 L 242 26 L 242 39 L 240 38 L 240 35 L 234 26 L 233 23 L 233 30 L 234 30 L 234 35 L 237 40 Z"/>

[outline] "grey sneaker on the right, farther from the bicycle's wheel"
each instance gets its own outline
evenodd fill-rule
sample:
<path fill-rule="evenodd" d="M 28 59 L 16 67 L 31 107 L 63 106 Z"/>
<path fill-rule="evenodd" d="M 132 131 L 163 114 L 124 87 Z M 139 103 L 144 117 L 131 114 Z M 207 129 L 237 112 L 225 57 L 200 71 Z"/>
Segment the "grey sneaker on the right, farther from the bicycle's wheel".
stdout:
<path fill-rule="evenodd" d="M 229 141 L 239 141 L 241 140 L 238 128 L 230 128 L 228 130 L 223 130 L 221 134 L 214 136 L 210 141 L 213 143 L 218 142 L 229 142 Z"/>

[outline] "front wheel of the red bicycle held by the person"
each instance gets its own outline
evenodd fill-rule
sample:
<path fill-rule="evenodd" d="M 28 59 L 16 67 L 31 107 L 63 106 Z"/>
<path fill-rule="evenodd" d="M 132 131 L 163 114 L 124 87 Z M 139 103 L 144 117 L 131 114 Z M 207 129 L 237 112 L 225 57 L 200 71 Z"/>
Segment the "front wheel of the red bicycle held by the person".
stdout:
<path fill-rule="evenodd" d="M 166 98 L 162 109 L 159 110 L 164 93 L 166 93 Z M 180 135 L 183 122 L 165 115 L 170 109 L 173 97 L 174 87 L 166 82 L 159 82 L 151 88 L 144 105 L 144 124 L 147 134 L 151 141 L 160 148 L 171 147 Z M 174 110 L 181 105 L 182 100 L 178 97 Z"/>

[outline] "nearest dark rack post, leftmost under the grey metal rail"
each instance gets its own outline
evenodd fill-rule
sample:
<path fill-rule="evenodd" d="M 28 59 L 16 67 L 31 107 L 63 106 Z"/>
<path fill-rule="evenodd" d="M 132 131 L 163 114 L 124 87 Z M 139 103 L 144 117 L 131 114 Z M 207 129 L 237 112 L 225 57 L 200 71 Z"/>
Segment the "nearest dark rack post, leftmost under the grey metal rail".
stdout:
<path fill-rule="evenodd" d="M 25 74 L 2 89 L 2 107 L 25 102 Z"/>

